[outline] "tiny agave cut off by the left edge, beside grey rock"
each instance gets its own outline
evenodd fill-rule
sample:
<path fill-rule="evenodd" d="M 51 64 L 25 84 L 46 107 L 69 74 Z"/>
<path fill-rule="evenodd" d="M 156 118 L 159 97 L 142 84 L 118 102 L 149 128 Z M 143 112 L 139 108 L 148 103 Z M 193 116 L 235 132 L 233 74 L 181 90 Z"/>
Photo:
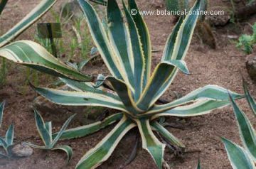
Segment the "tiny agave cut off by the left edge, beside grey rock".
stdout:
<path fill-rule="evenodd" d="M 3 116 L 4 116 L 4 105 L 5 105 L 5 102 L 0 103 L 0 126 L 2 124 Z M 0 156 L 4 158 L 10 158 L 11 157 L 10 147 L 13 146 L 13 144 L 14 144 L 14 125 L 11 124 L 11 126 L 9 126 L 9 129 L 6 131 L 5 138 L 0 137 L 0 145 L 4 148 L 4 151 L 5 151 L 5 153 L 0 153 Z"/>

